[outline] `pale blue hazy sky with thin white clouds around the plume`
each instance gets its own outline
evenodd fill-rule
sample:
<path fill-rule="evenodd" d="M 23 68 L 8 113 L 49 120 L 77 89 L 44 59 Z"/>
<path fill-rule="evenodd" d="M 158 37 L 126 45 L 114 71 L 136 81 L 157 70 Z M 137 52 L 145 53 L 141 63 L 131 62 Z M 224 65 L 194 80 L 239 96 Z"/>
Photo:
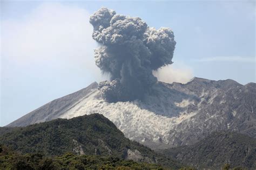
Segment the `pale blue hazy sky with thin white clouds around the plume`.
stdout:
<path fill-rule="evenodd" d="M 106 79 L 89 23 L 102 6 L 171 27 L 174 63 L 155 73 L 161 81 L 256 81 L 254 1 L 1 1 L 0 126 Z"/>

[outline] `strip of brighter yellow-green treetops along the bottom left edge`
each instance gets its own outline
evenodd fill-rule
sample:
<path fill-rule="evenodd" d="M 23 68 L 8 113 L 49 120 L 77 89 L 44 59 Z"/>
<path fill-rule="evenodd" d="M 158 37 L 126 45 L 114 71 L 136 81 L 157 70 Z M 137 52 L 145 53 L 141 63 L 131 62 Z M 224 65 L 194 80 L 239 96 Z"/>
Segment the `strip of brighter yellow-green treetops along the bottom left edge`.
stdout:
<path fill-rule="evenodd" d="M 47 157 L 39 153 L 20 154 L 0 146 L 0 169 L 163 169 L 160 165 L 99 155 L 66 153 Z"/>

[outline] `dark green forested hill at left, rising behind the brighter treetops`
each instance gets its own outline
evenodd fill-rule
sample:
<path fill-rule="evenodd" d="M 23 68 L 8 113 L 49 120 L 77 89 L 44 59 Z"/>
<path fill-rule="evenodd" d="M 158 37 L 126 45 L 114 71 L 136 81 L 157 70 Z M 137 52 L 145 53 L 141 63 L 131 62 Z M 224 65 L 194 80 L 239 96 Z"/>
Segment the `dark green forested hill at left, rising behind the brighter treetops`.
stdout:
<path fill-rule="evenodd" d="M 92 114 L 72 119 L 55 119 L 5 131 L 0 144 L 22 153 L 60 155 L 66 152 L 86 155 L 111 155 L 117 158 L 179 167 L 176 161 L 161 157 L 150 148 L 125 138 L 103 115 Z"/>

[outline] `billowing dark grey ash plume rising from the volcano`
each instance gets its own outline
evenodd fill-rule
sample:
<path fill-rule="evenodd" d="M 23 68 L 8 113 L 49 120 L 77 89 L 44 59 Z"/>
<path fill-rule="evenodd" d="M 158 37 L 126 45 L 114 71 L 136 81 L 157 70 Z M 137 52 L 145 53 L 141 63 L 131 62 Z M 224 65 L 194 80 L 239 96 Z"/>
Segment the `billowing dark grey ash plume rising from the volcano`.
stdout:
<path fill-rule="evenodd" d="M 141 99 L 157 78 L 152 70 L 172 63 L 176 45 L 173 32 L 149 27 L 138 17 L 117 15 L 102 8 L 90 17 L 92 38 L 102 46 L 95 50 L 96 65 L 110 73 L 111 81 L 99 83 L 107 102 Z"/>

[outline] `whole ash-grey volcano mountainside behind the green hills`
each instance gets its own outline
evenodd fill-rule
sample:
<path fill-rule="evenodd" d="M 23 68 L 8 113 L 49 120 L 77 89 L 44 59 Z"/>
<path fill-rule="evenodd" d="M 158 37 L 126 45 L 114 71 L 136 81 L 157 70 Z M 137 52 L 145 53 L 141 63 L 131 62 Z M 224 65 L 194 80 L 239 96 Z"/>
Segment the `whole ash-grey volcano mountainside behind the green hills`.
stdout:
<path fill-rule="evenodd" d="M 195 77 L 186 84 L 158 82 L 142 100 L 107 103 L 97 83 L 58 98 L 8 126 L 95 112 L 109 118 L 126 137 L 151 148 L 192 145 L 218 130 L 256 137 L 256 84 Z"/>

